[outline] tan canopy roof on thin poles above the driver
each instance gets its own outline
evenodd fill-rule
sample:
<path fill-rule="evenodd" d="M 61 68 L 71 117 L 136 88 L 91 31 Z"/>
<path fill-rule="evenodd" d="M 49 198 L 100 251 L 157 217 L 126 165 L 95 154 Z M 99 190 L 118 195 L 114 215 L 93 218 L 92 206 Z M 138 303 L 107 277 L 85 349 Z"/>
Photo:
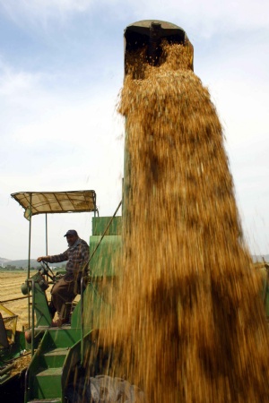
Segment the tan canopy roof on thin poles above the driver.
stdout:
<path fill-rule="evenodd" d="M 12 194 L 25 210 L 24 217 L 45 213 L 97 211 L 96 193 L 92 190 L 74 192 L 19 192 Z"/>

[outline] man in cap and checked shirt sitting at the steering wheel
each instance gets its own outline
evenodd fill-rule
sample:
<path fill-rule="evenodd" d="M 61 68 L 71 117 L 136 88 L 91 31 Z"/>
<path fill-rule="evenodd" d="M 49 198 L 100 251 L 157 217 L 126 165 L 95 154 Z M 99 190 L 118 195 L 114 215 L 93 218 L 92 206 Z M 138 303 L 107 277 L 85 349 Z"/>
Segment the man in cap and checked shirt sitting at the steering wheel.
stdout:
<path fill-rule="evenodd" d="M 64 253 L 54 256 L 40 256 L 37 259 L 38 262 L 49 263 L 68 261 L 65 276 L 57 281 L 51 290 L 49 311 L 52 319 L 55 313 L 58 314 L 58 319 L 51 323 L 54 327 L 60 327 L 69 322 L 71 303 L 80 289 L 82 272 L 87 270 L 90 255 L 89 245 L 77 235 L 74 229 L 69 229 L 65 236 L 69 247 Z"/>

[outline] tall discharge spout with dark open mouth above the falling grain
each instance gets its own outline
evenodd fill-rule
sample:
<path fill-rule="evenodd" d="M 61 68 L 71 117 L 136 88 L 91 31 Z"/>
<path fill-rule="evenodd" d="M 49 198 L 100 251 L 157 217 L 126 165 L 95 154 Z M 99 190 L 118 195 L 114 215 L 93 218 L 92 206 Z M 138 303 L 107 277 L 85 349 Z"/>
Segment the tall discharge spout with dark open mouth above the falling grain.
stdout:
<path fill-rule="evenodd" d="M 187 33 L 182 28 L 168 21 L 143 20 L 136 21 L 126 27 L 124 32 L 124 52 L 125 52 L 125 77 L 134 80 L 143 80 L 147 74 L 147 64 L 150 67 L 160 67 L 166 62 L 165 48 L 172 45 L 180 45 L 186 49 L 184 59 L 187 59 L 187 67 L 194 70 L 194 47 L 187 38 Z M 177 62 L 176 62 L 177 64 Z M 178 66 L 182 60 L 178 59 Z M 153 113 L 153 111 L 152 111 Z M 145 141 L 151 149 L 152 134 L 147 133 Z M 151 151 L 150 151 L 151 152 Z M 154 156 L 152 156 L 154 159 Z M 154 160 L 152 161 L 154 165 Z M 154 169 L 154 167 L 152 167 Z M 123 215 L 126 227 L 128 227 L 128 204 L 132 167 L 130 166 L 128 150 L 128 129 L 126 124 L 125 142 L 125 174 L 124 174 L 124 203 Z"/>

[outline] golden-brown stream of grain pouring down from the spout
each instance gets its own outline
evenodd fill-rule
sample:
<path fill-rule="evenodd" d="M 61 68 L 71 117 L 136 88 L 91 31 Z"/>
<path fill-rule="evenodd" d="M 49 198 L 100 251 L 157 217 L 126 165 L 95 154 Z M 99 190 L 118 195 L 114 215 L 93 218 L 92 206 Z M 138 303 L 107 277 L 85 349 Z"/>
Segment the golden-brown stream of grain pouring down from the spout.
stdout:
<path fill-rule="evenodd" d="M 163 44 L 159 67 L 128 56 L 124 274 L 107 335 L 124 350 L 115 373 L 150 403 L 267 402 L 265 312 L 221 124 L 187 51 Z"/>

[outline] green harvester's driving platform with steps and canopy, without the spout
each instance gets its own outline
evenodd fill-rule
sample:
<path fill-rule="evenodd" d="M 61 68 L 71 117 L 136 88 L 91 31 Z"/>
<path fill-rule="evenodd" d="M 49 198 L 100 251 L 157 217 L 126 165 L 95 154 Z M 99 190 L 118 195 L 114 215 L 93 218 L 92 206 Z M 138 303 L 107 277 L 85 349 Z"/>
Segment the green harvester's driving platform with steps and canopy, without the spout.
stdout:
<path fill-rule="evenodd" d="M 22 294 L 28 298 L 30 327 L 20 334 L 18 342 L 10 343 L 8 339 L 0 339 L 1 351 L 4 353 L 3 363 L 10 362 L 16 357 L 17 351 L 30 354 L 30 364 L 23 368 L 19 389 L 23 393 L 14 395 L 14 380 L 11 373 L 12 365 L 3 369 L 4 377 L 0 377 L 1 392 L 9 401 L 79 401 L 74 399 L 81 391 L 77 391 L 74 378 L 84 379 L 83 360 L 85 352 L 95 351 L 96 346 L 91 342 L 92 331 L 102 327 L 100 318 L 105 318 L 111 310 L 108 295 L 111 283 L 116 276 L 116 257 L 121 250 L 121 217 L 117 210 L 113 217 L 98 217 L 96 193 L 92 190 L 74 192 L 20 192 L 12 197 L 24 209 L 24 217 L 29 219 L 31 238 L 32 218 L 38 214 L 46 216 L 46 249 L 48 254 L 48 214 L 92 212 L 92 235 L 90 238 L 90 270 L 85 271 L 81 281 L 81 298 L 73 304 L 70 323 L 61 328 L 51 327 L 51 316 L 48 309 L 48 287 L 53 285 L 62 273 L 51 270 L 47 264 L 41 263 L 40 269 L 30 276 L 30 246 L 29 268 L 25 283 L 22 284 Z M 105 281 L 104 281 L 105 279 Z M 106 283 L 104 285 L 104 283 Z M 5 310 L 9 313 L 8 310 Z M 4 321 L 0 326 L 7 334 Z M 1 332 L 2 334 L 2 332 Z M 13 340 L 14 337 L 13 337 Z M 94 347 L 91 348 L 91 344 Z M 9 356 L 6 352 L 9 348 Z M 97 368 L 95 356 L 92 357 L 92 373 L 101 373 Z M 1 364 L 3 364 L 0 361 Z M 89 363 L 88 363 L 89 364 Z M 0 373 L 1 376 L 1 373 Z M 84 382 L 84 381 L 83 381 Z M 17 382 L 18 383 L 18 382 Z M 13 390 L 13 392 L 12 392 Z M 16 390 L 18 391 L 18 389 Z M 70 399 L 68 399 L 68 396 Z"/>

